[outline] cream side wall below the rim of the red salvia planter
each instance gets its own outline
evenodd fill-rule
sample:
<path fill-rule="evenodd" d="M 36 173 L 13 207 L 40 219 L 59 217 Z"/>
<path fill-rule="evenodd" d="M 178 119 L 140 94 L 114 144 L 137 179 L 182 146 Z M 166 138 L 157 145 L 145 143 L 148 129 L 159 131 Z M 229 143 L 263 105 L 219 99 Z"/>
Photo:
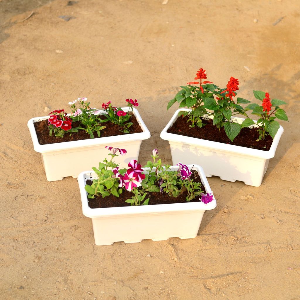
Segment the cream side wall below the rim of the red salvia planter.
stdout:
<path fill-rule="evenodd" d="M 203 168 L 207 177 L 219 176 L 222 180 L 238 180 L 259 187 L 268 168 L 269 159 L 247 158 L 244 155 L 229 155 L 228 152 L 205 149 L 201 146 L 172 141 L 169 143 L 173 164 L 178 161 L 183 164 L 196 162 Z"/>

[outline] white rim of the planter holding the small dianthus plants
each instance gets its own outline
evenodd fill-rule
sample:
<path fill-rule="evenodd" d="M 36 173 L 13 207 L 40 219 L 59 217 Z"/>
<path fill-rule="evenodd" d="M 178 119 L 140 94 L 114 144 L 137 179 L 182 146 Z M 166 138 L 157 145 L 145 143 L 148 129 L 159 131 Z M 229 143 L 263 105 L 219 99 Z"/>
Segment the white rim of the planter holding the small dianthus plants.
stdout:
<path fill-rule="evenodd" d="M 121 107 L 121 109 L 128 112 L 130 107 Z M 28 121 L 27 126 L 28 126 L 30 134 L 31 134 L 33 148 L 36 152 L 40 152 L 40 153 L 61 151 L 61 150 L 66 150 L 66 149 L 84 148 L 84 147 L 90 147 L 90 146 L 101 145 L 101 144 L 105 144 L 105 146 L 110 146 L 110 144 L 116 144 L 116 137 L 118 138 L 117 142 L 120 142 L 120 143 L 149 139 L 150 132 L 149 132 L 148 128 L 146 127 L 145 123 L 143 122 L 143 120 L 136 108 L 133 108 L 133 113 L 137 119 L 137 122 L 139 123 L 140 127 L 142 128 L 143 132 L 124 134 L 124 135 L 118 135 L 118 136 L 112 136 L 112 137 L 97 137 L 94 139 L 41 145 L 38 142 L 38 137 L 35 132 L 34 123 L 37 121 L 47 120 L 49 118 L 49 116 L 32 118 Z M 68 114 L 68 115 L 70 115 L 70 114 Z"/>

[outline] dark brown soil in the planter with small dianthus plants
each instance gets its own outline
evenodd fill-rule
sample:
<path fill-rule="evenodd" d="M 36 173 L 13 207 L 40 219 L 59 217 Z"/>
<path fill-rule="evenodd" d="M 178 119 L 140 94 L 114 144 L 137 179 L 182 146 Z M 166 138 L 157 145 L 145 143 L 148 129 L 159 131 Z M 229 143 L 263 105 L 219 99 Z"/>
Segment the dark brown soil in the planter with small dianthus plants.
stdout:
<path fill-rule="evenodd" d="M 101 118 L 101 117 L 100 117 Z M 104 119 L 104 117 L 102 117 Z M 140 127 L 139 123 L 137 122 L 137 119 L 134 115 L 131 116 L 128 122 L 132 122 L 133 125 L 130 126 L 129 130 L 130 133 L 139 133 L 143 132 L 142 128 Z M 53 134 L 52 136 L 49 135 L 49 129 L 48 129 L 48 120 L 35 122 L 35 131 L 38 136 L 38 142 L 40 145 L 46 145 L 46 144 L 53 144 L 53 143 L 62 143 L 62 142 L 70 142 L 70 141 L 79 141 L 79 140 L 89 140 L 90 135 L 86 133 L 84 130 L 79 130 L 78 132 L 70 134 L 65 134 L 63 138 L 61 137 L 55 137 Z M 119 131 L 119 126 L 116 124 L 113 124 L 111 122 L 104 122 L 101 123 L 102 126 L 106 126 L 103 130 L 100 131 L 101 136 L 100 137 L 113 137 L 115 135 L 123 135 L 125 133 Z M 79 122 L 73 122 L 72 127 L 75 128 L 79 126 Z M 98 138 L 98 135 L 96 132 L 94 132 L 94 138 Z"/>

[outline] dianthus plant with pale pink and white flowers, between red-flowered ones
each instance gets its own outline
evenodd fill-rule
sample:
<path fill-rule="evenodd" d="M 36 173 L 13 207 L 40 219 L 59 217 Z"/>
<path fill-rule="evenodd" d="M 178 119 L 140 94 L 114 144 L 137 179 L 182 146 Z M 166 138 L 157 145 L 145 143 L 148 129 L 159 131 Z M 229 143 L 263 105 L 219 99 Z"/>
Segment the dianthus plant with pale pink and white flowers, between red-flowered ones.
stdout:
<path fill-rule="evenodd" d="M 69 105 L 71 105 L 72 112 L 70 118 L 73 121 L 80 122 L 76 129 L 85 130 L 91 139 L 94 138 L 94 132 L 100 137 L 100 131 L 106 128 L 106 126 L 101 126 L 102 120 L 98 118 L 98 115 L 103 112 L 95 108 L 90 108 L 87 98 L 77 98 L 77 100 L 69 102 Z"/>

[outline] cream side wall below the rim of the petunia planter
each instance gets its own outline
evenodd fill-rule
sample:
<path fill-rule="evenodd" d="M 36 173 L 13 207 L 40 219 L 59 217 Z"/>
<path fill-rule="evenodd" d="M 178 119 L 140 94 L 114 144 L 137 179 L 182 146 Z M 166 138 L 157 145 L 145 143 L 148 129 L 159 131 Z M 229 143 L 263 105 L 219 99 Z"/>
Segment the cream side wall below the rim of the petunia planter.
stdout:
<path fill-rule="evenodd" d="M 110 245 L 115 241 L 138 243 L 143 239 L 161 241 L 171 237 L 195 238 L 203 214 L 204 211 L 183 214 L 167 212 L 111 219 L 92 218 L 95 244 Z"/>

